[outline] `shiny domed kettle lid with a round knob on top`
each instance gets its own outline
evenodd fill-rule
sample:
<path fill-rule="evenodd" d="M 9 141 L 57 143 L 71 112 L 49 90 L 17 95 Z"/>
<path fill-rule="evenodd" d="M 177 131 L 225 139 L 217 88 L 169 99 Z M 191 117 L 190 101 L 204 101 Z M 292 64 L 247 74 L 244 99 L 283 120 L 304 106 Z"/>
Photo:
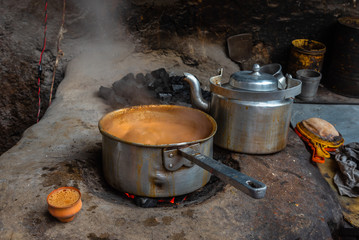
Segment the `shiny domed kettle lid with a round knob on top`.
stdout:
<path fill-rule="evenodd" d="M 253 65 L 253 71 L 239 71 L 231 75 L 229 84 L 234 88 L 249 91 L 274 91 L 278 89 L 278 80 L 271 74 L 260 73 L 260 66 Z"/>

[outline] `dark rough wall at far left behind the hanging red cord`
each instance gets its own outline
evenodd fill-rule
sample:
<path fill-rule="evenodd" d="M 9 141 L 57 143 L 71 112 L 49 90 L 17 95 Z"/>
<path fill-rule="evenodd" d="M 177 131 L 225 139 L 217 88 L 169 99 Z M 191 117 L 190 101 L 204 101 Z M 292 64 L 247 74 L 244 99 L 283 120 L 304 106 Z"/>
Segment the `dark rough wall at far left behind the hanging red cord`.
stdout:
<path fill-rule="evenodd" d="M 54 92 L 63 79 L 69 51 L 74 39 L 83 33 L 81 10 L 77 1 L 67 1 L 66 49 L 60 58 L 54 81 Z M 61 25 L 63 1 L 48 1 L 46 48 L 42 57 L 41 113 L 49 106 L 53 66 L 57 55 L 57 35 Z M 21 138 L 25 129 L 36 123 L 38 111 L 38 64 L 44 39 L 45 1 L 0 1 L 0 154 Z M 75 28 L 75 29 L 74 29 Z M 77 28 L 77 29 L 76 29 Z"/>

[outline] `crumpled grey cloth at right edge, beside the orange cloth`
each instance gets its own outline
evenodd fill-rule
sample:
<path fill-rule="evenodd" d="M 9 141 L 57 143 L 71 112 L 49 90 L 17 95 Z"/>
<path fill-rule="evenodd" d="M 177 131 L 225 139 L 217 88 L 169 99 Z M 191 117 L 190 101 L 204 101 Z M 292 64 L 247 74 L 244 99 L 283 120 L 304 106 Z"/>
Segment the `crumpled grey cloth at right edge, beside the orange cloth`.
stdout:
<path fill-rule="evenodd" d="M 335 160 L 339 172 L 334 176 L 339 194 L 348 197 L 359 196 L 359 143 L 353 142 L 338 149 Z"/>

